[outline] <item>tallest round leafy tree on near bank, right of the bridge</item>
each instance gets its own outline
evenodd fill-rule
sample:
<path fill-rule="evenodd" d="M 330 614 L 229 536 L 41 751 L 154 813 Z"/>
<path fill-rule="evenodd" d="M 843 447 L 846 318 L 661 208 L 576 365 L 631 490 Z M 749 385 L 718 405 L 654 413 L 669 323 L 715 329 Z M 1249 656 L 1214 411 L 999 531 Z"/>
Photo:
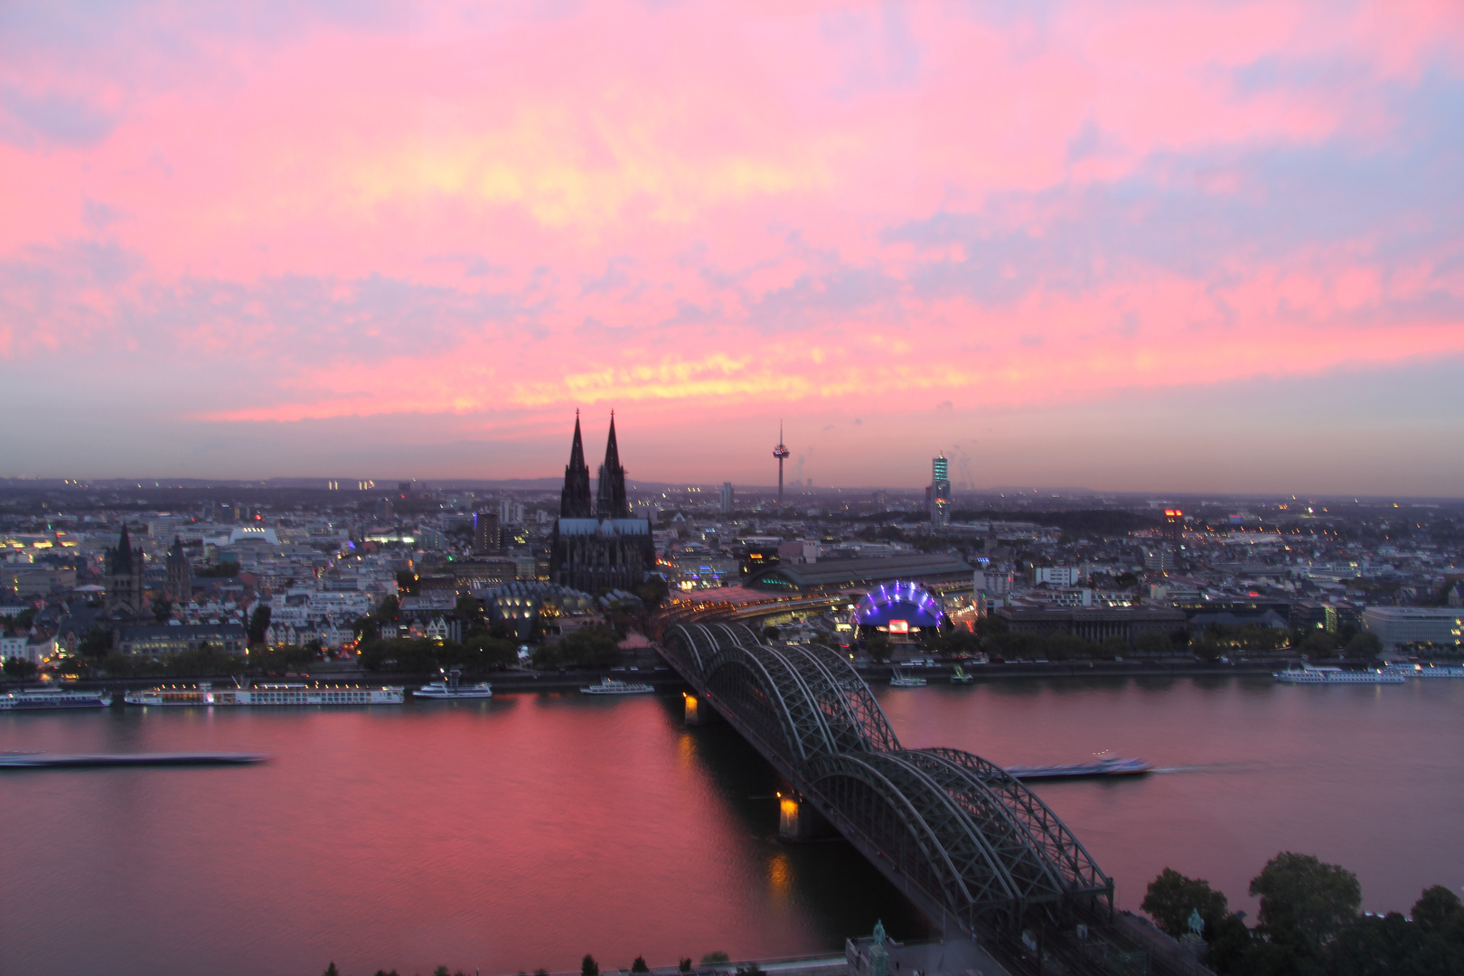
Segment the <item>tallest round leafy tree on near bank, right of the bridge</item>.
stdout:
<path fill-rule="evenodd" d="M 1357 875 L 1312 855 L 1281 852 L 1250 882 L 1261 898 L 1261 928 L 1268 938 L 1290 931 L 1312 945 L 1325 945 L 1357 917 L 1363 890 Z"/>

